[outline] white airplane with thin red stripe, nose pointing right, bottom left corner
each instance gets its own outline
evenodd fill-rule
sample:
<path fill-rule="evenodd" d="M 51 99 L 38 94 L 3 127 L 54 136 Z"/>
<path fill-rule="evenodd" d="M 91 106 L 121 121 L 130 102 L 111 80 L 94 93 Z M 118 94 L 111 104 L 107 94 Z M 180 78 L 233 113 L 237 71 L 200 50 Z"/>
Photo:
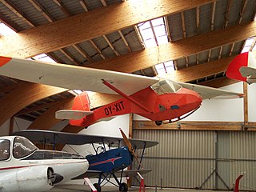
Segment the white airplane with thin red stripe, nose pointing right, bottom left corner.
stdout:
<path fill-rule="evenodd" d="M 0 191 L 46 191 L 88 170 L 77 154 L 38 150 L 27 138 L 0 137 Z"/>

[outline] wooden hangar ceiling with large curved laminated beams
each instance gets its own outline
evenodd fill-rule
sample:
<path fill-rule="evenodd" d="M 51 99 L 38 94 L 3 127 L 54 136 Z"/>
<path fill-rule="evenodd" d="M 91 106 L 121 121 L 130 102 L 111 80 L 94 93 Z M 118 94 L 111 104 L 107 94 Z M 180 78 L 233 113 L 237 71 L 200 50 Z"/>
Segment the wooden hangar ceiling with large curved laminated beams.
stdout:
<path fill-rule="evenodd" d="M 0 54 L 45 53 L 56 62 L 148 76 L 172 60 L 175 81 L 226 86 L 234 83 L 226 67 L 256 36 L 255 11 L 254 0 L 0 0 L 0 22 L 17 32 L 0 37 Z M 159 17 L 169 42 L 145 48 L 138 24 Z M 91 94 L 93 107 L 114 100 Z M 59 122 L 54 111 L 70 108 L 73 98 L 69 90 L 0 76 L 0 126 L 19 117 L 49 130 Z"/>

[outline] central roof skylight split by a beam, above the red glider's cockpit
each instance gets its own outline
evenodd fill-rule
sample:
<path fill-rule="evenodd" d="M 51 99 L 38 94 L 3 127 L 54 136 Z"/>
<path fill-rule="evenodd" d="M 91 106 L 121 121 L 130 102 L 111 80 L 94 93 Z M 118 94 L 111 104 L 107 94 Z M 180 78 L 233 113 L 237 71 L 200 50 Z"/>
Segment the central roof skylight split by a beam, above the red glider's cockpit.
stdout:
<path fill-rule="evenodd" d="M 168 43 L 168 34 L 164 18 L 156 18 L 148 22 L 138 24 L 138 30 L 146 48 Z M 175 70 L 174 62 L 162 62 L 154 66 L 158 74 L 170 73 Z"/>

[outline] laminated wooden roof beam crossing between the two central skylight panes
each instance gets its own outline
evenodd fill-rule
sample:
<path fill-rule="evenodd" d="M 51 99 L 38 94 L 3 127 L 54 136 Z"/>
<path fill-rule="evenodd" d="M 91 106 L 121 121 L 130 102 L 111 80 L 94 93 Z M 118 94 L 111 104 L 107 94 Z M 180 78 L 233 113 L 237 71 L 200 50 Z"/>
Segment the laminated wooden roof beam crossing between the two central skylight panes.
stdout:
<path fill-rule="evenodd" d="M 198 54 L 205 50 L 217 48 L 218 46 L 239 42 L 255 35 L 256 22 L 250 22 L 241 26 L 229 26 L 222 30 L 214 30 L 210 33 L 198 34 L 194 37 L 184 38 L 176 42 L 169 42 L 157 47 L 138 50 L 87 66 L 132 73 L 152 67 L 161 62 L 174 61 L 191 54 Z"/>

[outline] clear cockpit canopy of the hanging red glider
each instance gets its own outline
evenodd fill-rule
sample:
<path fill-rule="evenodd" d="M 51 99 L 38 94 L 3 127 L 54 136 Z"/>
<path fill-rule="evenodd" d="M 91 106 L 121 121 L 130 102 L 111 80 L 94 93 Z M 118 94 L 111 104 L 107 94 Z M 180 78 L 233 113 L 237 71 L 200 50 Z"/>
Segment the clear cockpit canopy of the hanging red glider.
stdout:
<path fill-rule="evenodd" d="M 176 93 L 178 90 L 182 88 L 182 86 L 178 85 L 178 83 L 173 82 L 169 79 L 162 79 L 159 82 L 155 83 L 151 88 L 154 90 L 156 94 L 168 94 L 168 93 Z"/>

